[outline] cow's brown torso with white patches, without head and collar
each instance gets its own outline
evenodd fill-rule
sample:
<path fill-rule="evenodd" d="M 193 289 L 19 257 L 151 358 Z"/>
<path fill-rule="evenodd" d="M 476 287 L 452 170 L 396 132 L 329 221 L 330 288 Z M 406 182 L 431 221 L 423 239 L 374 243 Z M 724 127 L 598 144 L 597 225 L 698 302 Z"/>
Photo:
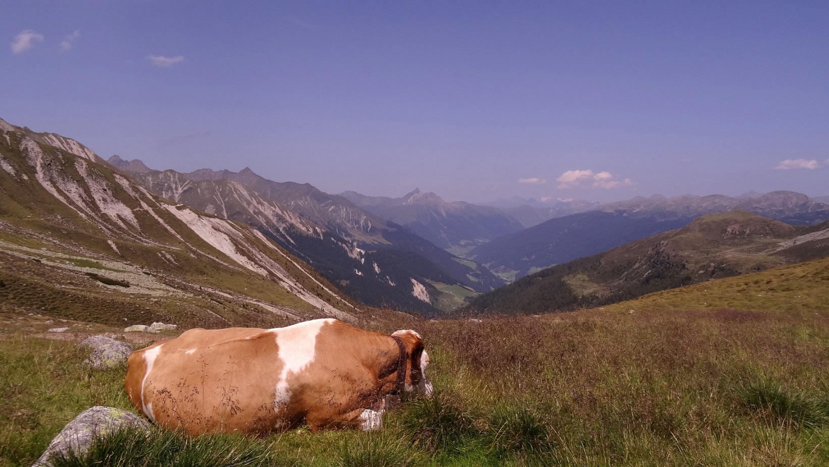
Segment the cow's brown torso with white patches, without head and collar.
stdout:
<path fill-rule="evenodd" d="M 339 399 L 343 382 L 364 377 L 353 344 L 359 333 L 334 319 L 191 329 L 130 355 L 125 386 L 133 405 L 161 426 L 193 434 L 274 431 L 309 408 L 351 403 Z"/>

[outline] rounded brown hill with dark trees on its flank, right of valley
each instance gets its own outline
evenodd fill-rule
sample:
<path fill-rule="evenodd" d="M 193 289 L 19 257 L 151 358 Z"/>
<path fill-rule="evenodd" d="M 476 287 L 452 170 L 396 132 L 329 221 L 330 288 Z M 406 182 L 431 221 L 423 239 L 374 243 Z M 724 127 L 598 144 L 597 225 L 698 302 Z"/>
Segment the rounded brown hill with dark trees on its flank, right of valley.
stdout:
<path fill-rule="evenodd" d="M 476 297 L 465 311 L 537 314 L 613 304 L 827 255 L 829 221 L 791 226 L 749 212 L 712 214 L 528 275 Z"/>

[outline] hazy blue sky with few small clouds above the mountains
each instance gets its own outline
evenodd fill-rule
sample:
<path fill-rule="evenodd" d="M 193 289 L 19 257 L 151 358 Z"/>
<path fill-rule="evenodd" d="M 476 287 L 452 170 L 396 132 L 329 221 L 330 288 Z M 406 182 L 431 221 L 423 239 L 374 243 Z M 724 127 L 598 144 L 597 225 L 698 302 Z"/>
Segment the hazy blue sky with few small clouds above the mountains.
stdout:
<path fill-rule="evenodd" d="M 0 117 L 447 200 L 829 194 L 829 2 L 5 0 Z"/>

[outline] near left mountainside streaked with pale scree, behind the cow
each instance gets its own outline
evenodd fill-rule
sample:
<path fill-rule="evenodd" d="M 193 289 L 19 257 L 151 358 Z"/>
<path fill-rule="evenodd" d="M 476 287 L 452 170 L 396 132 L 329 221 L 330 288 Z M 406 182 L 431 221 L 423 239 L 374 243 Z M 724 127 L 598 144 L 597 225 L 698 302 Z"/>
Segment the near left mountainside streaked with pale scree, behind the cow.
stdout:
<path fill-rule="evenodd" d="M 0 309 L 202 326 L 366 312 L 258 230 L 149 192 L 73 139 L 0 120 Z"/>

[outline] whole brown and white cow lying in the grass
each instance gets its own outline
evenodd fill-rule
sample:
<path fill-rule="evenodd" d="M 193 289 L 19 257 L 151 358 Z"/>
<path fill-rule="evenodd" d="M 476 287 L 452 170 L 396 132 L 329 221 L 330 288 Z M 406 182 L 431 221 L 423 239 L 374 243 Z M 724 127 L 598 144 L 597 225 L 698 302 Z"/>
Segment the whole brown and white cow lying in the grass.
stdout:
<path fill-rule="evenodd" d="M 129 356 L 129 400 L 193 435 L 382 426 L 387 395 L 430 396 L 429 356 L 411 330 L 391 336 L 336 319 L 286 328 L 191 329 Z"/>

